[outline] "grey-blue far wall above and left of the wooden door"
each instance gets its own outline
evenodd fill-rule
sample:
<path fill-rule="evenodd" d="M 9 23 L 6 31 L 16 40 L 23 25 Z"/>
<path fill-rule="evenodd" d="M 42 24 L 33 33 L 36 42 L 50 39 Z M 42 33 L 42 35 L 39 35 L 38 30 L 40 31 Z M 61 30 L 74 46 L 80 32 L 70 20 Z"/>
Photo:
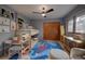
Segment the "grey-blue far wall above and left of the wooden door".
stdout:
<path fill-rule="evenodd" d="M 37 29 L 39 29 L 40 34 L 39 34 L 39 38 L 43 38 L 43 23 L 46 22 L 60 22 L 61 24 L 63 24 L 63 18 L 55 18 L 55 20 L 33 20 L 30 21 L 30 24 L 36 27 Z"/>

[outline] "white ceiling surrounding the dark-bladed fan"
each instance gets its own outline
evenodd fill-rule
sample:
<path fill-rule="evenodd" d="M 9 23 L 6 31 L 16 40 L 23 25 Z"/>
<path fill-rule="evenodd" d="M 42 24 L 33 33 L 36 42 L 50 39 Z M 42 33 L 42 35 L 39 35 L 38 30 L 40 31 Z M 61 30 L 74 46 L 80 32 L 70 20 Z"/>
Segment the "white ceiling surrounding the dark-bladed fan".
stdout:
<path fill-rule="evenodd" d="M 9 7 L 16 12 L 29 17 L 30 20 L 43 20 L 43 18 L 59 18 L 65 16 L 71 10 L 73 10 L 75 4 L 9 4 Z M 42 11 L 42 7 L 46 9 L 54 9 L 53 12 L 46 14 L 47 17 L 43 17 L 40 14 L 32 13 L 33 11 Z"/>

